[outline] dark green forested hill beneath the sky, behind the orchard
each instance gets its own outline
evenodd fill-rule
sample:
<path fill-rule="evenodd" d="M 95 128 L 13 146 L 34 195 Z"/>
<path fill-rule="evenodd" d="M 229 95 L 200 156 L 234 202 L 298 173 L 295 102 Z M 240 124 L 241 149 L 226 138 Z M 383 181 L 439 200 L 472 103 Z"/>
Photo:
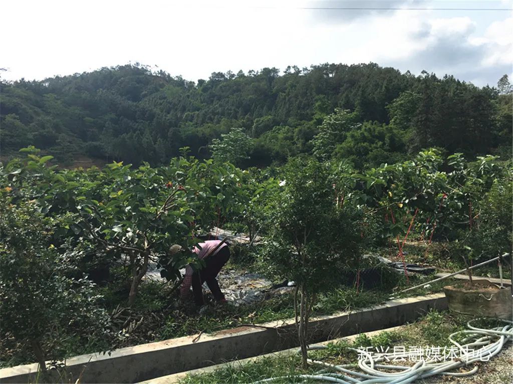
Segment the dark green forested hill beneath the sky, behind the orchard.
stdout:
<path fill-rule="evenodd" d="M 126 65 L 2 82 L 0 148 L 8 157 L 35 145 L 63 164 L 87 157 L 157 165 L 183 146 L 210 157 L 213 139 L 236 134 L 234 144 L 242 135 L 248 152 L 241 166 L 303 152 L 374 166 L 433 146 L 509 156 L 510 93 L 507 76 L 498 88 L 478 88 L 374 63 L 216 72 L 196 83 Z"/>

